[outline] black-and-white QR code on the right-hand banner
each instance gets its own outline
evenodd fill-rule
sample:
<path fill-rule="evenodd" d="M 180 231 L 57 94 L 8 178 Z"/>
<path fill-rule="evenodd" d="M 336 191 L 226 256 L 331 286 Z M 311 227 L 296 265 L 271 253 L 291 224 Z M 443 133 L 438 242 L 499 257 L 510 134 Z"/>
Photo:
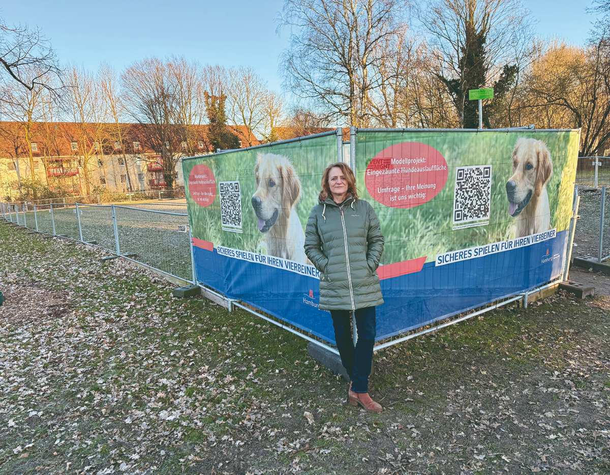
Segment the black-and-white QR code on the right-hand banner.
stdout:
<path fill-rule="evenodd" d="M 489 223 L 491 196 L 491 165 L 458 167 L 453 198 L 454 228 L 465 223 L 470 223 L 470 226 Z"/>

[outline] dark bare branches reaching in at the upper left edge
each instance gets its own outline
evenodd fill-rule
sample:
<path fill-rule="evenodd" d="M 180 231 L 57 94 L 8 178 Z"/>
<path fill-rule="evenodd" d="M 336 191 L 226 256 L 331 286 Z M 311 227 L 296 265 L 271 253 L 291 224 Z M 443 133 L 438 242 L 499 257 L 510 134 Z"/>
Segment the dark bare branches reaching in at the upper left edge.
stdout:
<path fill-rule="evenodd" d="M 9 26 L 0 18 L 0 84 L 16 81 L 27 90 L 46 88 L 54 91 L 62 71 L 49 41 L 38 29 Z M 36 74 L 32 74 L 36 71 Z M 53 78 L 55 76 L 55 78 Z M 0 100 L 4 95 L 0 96 Z"/>

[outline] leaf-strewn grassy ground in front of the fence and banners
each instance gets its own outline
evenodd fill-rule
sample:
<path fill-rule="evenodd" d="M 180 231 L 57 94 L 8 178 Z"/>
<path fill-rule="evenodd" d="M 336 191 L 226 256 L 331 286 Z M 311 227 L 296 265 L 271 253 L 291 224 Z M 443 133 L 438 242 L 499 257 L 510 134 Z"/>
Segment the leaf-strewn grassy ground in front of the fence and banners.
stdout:
<path fill-rule="evenodd" d="M 610 299 L 558 295 L 376 356 L 386 411 L 303 340 L 0 223 L 0 473 L 609 473 Z"/>

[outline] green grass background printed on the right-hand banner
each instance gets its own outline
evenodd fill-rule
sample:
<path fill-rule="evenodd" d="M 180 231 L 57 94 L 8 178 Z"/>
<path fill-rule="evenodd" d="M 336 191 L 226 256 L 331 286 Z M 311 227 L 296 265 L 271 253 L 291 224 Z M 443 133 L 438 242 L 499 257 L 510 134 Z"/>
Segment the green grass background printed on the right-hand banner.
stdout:
<path fill-rule="evenodd" d="M 572 210 L 578 152 L 578 132 L 359 132 L 356 145 L 357 188 L 379 217 L 386 236 L 382 263 L 436 255 L 514 238 L 514 219 L 508 214 L 506 181 L 512 175 L 512 150 L 519 137 L 543 140 L 553 161 L 547 184 L 551 227 L 567 229 Z M 414 208 L 389 208 L 377 203 L 365 187 L 364 171 L 381 150 L 401 142 L 422 142 L 436 148 L 447 161 L 447 184 L 431 201 Z M 453 230 L 453 194 L 458 166 L 492 165 L 492 200 L 488 225 Z"/>

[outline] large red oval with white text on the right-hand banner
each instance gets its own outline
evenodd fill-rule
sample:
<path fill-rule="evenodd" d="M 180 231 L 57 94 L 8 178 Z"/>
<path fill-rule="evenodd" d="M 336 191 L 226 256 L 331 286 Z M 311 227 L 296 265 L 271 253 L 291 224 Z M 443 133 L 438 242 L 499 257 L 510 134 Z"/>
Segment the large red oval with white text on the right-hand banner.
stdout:
<path fill-rule="evenodd" d="M 401 142 L 384 148 L 368 162 L 364 181 L 382 205 L 414 208 L 432 200 L 447 183 L 447 161 L 422 142 Z"/>

